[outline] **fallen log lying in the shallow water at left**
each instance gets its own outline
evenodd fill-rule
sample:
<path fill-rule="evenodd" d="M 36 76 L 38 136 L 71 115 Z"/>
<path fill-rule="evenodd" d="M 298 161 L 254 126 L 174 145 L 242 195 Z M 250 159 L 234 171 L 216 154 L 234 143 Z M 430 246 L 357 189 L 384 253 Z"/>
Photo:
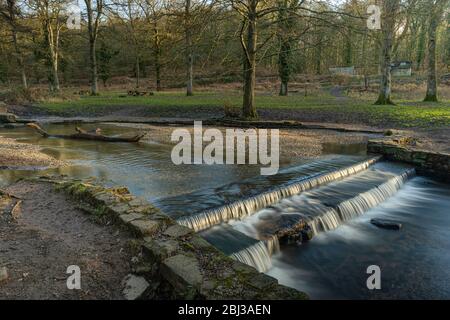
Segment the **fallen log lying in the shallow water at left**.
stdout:
<path fill-rule="evenodd" d="M 64 134 L 50 134 L 42 129 L 36 123 L 28 123 L 29 128 L 36 130 L 44 138 L 59 138 L 59 139 L 72 139 L 72 140 L 95 140 L 104 142 L 139 142 L 145 134 L 138 134 L 132 137 L 108 137 L 101 135 L 99 129 L 96 129 L 93 133 L 87 132 L 81 128 L 76 128 L 77 133 L 64 135 Z"/>

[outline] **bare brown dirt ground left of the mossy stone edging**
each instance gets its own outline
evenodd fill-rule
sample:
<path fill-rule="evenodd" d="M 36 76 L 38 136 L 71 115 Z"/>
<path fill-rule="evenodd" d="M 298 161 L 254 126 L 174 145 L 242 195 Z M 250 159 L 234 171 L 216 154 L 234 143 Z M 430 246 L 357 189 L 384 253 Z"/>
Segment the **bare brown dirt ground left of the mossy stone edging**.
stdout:
<path fill-rule="evenodd" d="M 23 202 L 14 219 L 0 207 L 0 299 L 122 299 L 130 239 L 100 226 L 48 183 L 21 181 L 6 190 Z M 81 269 L 81 290 L 68 290 L 67 267 Z"/>

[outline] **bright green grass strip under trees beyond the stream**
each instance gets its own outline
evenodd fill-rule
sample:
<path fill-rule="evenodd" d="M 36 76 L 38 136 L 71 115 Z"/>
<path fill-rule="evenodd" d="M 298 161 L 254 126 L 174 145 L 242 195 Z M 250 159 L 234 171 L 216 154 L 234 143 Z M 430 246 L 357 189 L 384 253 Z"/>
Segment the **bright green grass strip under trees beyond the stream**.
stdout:
<path fill-rule="evenodd" d="M 120 93 L 105 93 L 100 96 L 86 96 L 74 100 L 46 101 L 39 105 L 54 115 L 99 115 L 107 113 L 109 108 L 125 109 L 126 107 L 148 107 L 149 116 L 164 114 L 168 109 L 176 109 L 180 115 L 192 117 L 196 108 L 217 110 L 222 115 L 225 104 L 239 107 L 242 98 L 237 92 L 200 92 L 193 97 L 186 97 L 181 92 L 156 93 L 149 97 L 120 97 Z M 441 128 L 450 126 L 450 100 L 440 103 L 424 103 L 397 99 L 396 106 L 375 106 L 370 98 L 337 99 L 326 93 L 304 97 L 292 95 L 279 97 L 257 95 L 256 104 L 259 110 L 277 109 L 295 115 L 296 118 L 314 121 L 363 123 L 374 126 Z M 123 107 L 123 108 L 122 108 Z M 288 120 L 288 119 L 286 119 Z"/>

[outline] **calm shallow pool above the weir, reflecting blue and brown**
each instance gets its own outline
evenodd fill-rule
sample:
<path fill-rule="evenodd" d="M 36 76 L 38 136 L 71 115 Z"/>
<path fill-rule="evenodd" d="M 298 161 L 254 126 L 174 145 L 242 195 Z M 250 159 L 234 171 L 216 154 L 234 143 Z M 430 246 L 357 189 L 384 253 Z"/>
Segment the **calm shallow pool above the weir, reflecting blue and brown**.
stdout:
<path fill-rule="evenodd" d="M 49 125 L 53 134 L 74 132 L 75 125 Z M 97 126 L 95 126 L 97 127 Z M 101 125 L 105 135 L 135 132 L 133 129 Z M 94 125 L 83 125 L 94 128 Z M 99 143 L 95 141 L 44 139 L 28 128 L 0 129 L 0 135 L 42 147 L 42 151 L 71 166 L 31 172 L 8 170 L 0 172 L 0 185 L 32 174 L 60 173 L 75 178 L 96 177 L 106 185 L 125 185 L 136 195 L 154 201 L 159 198 L 210 189 L 240 181 L 260 173 L 257 165 L 174 165 L 172 147 L 158 143 Z"/>

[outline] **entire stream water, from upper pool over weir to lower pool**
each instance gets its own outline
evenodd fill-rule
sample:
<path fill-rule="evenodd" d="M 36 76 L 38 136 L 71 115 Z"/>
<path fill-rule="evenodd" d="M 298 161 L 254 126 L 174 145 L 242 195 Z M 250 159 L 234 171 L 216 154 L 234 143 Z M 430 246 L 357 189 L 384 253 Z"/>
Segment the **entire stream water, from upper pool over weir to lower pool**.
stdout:
<path fill-rule="evenodd" d="M 321 159 L 293 161 L 264 177 L 259 166 L 175 166 L 165 144 L 42 139 L 26 128 L 0 129 L 0 135 L 71 162 L 45 173 L 127 186 L 232 258 L 312 298 L 450 297 L 450 187 L 367 156 L 364 145 L 326 144 Z M 0 186 L 42 173 L 0 170 Z M 371 218 L 396 220 L 403 229 L 378 229 Z M 280 248 L 276 231 L 300 221 L 311 227 L 313 240 Z M 382 290 L 367 289 L 370 265 L 381 268 Z"/>

